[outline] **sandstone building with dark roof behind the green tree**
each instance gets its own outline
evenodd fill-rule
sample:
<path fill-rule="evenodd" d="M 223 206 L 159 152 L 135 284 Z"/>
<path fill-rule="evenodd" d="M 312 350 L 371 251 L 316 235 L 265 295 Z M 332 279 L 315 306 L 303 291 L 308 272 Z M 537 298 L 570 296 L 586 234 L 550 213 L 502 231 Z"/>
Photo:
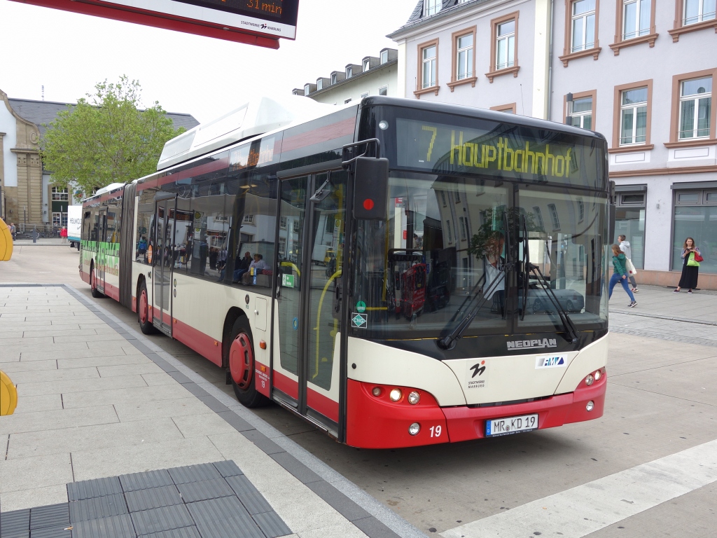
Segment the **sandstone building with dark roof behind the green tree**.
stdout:
<path fill-rule="evenodd" d="M 11 99 L 0 90 L 0 214 L 6 222 L 67 225 L 67 206 L 77 204 L 72 192 L 52 186 L 42 166 L 39 143 L 46 125 L 71 103 Z M 168 113 L 174 128 L 190 129 L 199 122 L 189 114 Z"/>

